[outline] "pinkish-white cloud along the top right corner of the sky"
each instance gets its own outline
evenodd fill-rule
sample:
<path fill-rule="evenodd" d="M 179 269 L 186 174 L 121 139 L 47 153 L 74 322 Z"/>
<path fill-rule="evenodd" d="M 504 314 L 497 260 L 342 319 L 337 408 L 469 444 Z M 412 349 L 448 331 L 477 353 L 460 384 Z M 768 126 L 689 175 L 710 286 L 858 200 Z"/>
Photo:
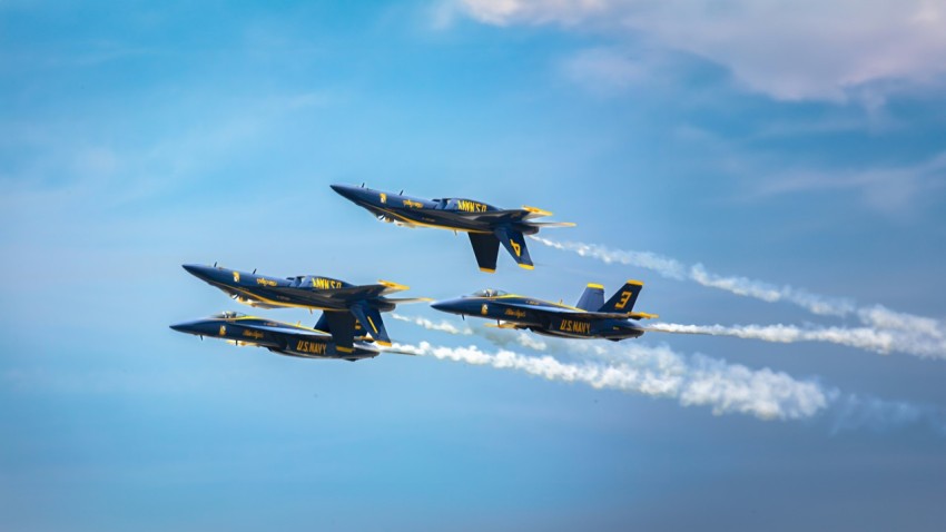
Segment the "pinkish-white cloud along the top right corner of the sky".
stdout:
<path fill-rule="evenodd" d="M 868 83 L 925 83 L 946 72 L 946 4 L 936 0 L 463 0 L 463 7 L 496 26 L 633 35 L 721 65 L 780 100 L 844 101 Z"/>

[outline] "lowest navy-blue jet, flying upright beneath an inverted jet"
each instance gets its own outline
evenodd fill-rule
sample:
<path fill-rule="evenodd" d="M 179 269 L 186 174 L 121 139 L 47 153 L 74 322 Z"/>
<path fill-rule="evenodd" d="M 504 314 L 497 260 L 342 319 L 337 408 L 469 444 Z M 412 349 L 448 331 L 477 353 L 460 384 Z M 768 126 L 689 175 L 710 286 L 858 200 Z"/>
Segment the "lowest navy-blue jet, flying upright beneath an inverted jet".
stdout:
<path fill-rule="evenodd" d="M 324 316 L 324 315 L 323 315 Z M 322 322 L 321 322 L 322 323 Z M 266 347 L 280 355 L 302 358 L 344 358 L 361 361 L 374 358 L 378 351 L 364 342 L 356 342 L 351 349 L 339 349 L 332 335 L 318 328 L 308 328 L 235 312 L 215 314 L 205 319 L 171 325 L 180 333 L 223 338 L 236 345 Z"/>

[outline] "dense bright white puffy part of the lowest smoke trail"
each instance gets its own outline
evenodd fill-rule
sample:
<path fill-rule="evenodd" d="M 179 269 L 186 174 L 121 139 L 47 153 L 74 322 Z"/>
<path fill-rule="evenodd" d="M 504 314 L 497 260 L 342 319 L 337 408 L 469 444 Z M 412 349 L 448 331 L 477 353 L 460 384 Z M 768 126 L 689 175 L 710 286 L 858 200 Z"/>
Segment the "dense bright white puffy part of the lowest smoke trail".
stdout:
<path fill-rule="evenodd" d="M 669 347 L 628 349 L 611 364 L 563 363 L 551 356 L 525 356 L 508 349 L 491 354 L 469 347 L 394 345 L 394 349 L 438 359 L 516 370 L 550 381 L 578 382 L 594 388 L 620 390 L 676 398 L 681 405 L 703 405 L 713 414 L 742 413 L 760 420 L 800 420 L 816 415 L 830 393 L 814 381 L 796 381 L 771 370 L 752 371 L 704 355 L 689 358 Z"/>

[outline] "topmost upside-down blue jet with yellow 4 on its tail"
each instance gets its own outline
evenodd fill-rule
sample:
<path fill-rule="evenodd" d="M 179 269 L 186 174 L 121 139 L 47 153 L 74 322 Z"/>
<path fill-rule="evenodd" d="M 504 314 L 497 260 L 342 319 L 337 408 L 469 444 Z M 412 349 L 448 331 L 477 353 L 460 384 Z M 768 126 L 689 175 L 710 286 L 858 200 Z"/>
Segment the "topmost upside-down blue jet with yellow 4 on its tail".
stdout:
<path fill-rule="evenodd" d="M 500 243 L 521 267 L 532 269 L 524 235 L 543 227 L 572 227 L 569 221 L 532 221 L 552 213 L 535 207 L 501 209 L 481 201 L 461 198 L 420 199 L 371 188 L 332 185 L 332 188 L 374 214 L 382 221 L 407 227 L 435 227 L 465 231 L 473 245 L 476 263 L 483 272 L 496 270 Z"/>

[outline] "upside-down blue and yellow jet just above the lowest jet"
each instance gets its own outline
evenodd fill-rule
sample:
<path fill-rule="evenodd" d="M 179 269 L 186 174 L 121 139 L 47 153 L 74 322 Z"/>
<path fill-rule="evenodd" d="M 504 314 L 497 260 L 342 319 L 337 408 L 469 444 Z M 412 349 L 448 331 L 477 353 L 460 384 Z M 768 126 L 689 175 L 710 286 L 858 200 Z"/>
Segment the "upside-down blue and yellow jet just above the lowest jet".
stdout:
<path fill-rule="evenodd" d="M 425 297 L 384 297 L 386 294 L 407 289 L 406 286 L 390 280 L 357 286 L 317 275 L 278 278 L 256 275 L 256 270 L 237 272 L 216 265 L 185 264 L 184 269 L 245 305 L 325 311 L 324 317 L 329 325 L 336 348 L 343 353 L 353 349 L 355 333 L 362 329 L 367 331 L 377 344 L 390 346 L 391 338 L 384 328 L 381 313 L 393 311 L 398 303 L 431 301 Z"/>

